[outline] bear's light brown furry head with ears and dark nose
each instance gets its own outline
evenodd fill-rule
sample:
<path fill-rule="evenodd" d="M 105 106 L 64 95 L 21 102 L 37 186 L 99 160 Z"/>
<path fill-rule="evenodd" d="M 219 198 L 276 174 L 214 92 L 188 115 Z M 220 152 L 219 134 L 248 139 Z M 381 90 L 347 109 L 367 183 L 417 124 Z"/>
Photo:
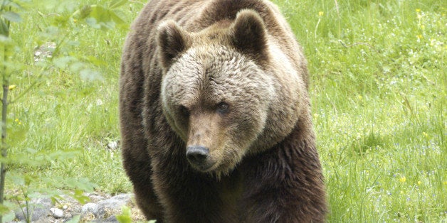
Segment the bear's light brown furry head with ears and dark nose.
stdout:
<path fill-rule="evenodd" d="M 243 10 L 198 33 L 174 21 L 158 32 L 164 115 L 193 168 L 228 174 L 253 153 L 275 95 L 263 19 Z"/>

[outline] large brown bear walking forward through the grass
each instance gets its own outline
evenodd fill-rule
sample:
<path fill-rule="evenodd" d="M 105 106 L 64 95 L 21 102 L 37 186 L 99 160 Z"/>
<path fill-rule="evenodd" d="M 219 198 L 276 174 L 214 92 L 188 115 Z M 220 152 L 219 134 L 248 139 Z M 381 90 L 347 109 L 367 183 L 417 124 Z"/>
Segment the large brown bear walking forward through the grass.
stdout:
<path fill-rule="evenodd" d="M 125 43 L 122 156 L 159 222 L 324 222 L 300 45 L 266 0 L 152 0 Z"/>

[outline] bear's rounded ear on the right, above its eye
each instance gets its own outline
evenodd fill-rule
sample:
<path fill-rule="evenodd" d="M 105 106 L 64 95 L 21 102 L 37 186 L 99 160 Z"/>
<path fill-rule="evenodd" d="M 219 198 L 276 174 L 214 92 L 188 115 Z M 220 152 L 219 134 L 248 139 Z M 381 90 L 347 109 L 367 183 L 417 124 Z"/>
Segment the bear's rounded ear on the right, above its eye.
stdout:
<path fill-rule="evenodd" d="M 230 35 L 233 45 L 242 53 L 255 60 L 267 59 L 267 33 L 263 18 L 256 11 L 239 11 L 230 28 Z"/>

